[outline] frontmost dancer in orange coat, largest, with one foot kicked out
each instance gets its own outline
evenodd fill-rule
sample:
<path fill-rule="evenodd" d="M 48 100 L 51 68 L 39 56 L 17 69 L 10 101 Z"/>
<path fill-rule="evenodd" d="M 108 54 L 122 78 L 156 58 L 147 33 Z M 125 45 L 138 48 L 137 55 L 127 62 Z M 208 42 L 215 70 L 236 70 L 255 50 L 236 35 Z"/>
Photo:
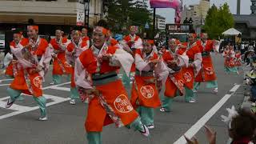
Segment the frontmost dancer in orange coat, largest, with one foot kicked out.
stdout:
<path fill-rule="evenodd" d="M 102 127 L 113 122 L 118 127 L 130 125 L 149 135 L 116 73 L 122 66 L 129 74 L 134 58 L 122 49 L 107 46 L 106 34 L 104 27 L 96 26 L 93 46 L 82 52 L 75 64 L 75 83 L 80 97 L 89 102 L 85 123 L 89 144 L 102 144 Z"/>

